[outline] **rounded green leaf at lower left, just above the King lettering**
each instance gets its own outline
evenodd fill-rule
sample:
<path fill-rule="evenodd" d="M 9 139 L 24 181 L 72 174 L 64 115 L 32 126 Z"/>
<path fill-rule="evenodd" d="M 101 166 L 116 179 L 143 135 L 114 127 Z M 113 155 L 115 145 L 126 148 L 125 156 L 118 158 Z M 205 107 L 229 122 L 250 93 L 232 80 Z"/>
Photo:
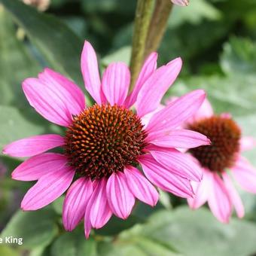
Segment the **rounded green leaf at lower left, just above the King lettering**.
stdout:
<path fill-rule="evenodd" d="M 58 231 L 54 218 L 54 212 L 47 208 L 36 212 L 18 211 L 2 231 L 1 237 L 22 238 L 23 245 L 20 246 L 24 248 L 46 246 Z"/>

